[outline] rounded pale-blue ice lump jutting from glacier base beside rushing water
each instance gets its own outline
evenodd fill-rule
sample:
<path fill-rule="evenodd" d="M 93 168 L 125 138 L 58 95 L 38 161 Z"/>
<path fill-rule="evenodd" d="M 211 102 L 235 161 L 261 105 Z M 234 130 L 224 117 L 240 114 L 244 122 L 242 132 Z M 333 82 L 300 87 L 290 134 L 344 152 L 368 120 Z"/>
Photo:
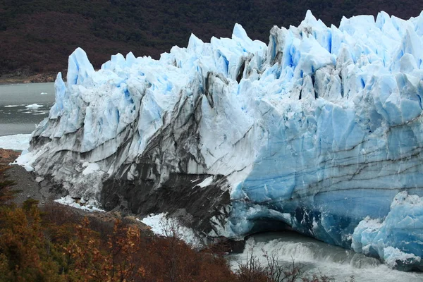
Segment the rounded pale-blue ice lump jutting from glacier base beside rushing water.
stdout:
<path fill-rule="evenodd" d="M 403 191 L 394 197 L 383 221 L 368 216 L 360 221 L 351 247 L 355 252 L 379 256 L 389 266 L 410 269 L 422 260 L 422 238 L 423 197 Z"/>

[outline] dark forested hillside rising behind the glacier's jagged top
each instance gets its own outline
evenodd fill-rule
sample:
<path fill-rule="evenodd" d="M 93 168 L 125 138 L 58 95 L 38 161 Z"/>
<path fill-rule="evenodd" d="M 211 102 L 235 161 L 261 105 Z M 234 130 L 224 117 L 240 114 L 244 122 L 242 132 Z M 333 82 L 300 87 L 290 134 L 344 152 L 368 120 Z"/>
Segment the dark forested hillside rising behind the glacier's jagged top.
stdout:
<path fill-rule="evenodd" d="M 410 18 L 415 0 L 0 0 L 0 75 L 62 71 L 82 47 L 99 68 L 111 54 L 133 51 L 158 58 L 191 33 L 205 41 L 229 37 L 240 23 L 253 39 L 268 41 L 273 25 L 298 25 L 307 9 L 326 25 L 342 16 L 379 11 Z"/>

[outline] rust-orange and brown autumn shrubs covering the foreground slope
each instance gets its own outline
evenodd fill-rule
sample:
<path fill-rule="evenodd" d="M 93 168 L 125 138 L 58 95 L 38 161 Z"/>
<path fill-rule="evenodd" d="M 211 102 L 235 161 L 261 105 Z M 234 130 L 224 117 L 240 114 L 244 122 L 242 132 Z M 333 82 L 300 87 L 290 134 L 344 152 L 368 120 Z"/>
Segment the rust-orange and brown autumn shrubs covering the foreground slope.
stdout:
<path fill-rule="evenodd" d="M 97 231 L 106 226 L 56 204 L 2 206 L 0 281 L 236 281 L 220 255 L 120 220 Z"/>

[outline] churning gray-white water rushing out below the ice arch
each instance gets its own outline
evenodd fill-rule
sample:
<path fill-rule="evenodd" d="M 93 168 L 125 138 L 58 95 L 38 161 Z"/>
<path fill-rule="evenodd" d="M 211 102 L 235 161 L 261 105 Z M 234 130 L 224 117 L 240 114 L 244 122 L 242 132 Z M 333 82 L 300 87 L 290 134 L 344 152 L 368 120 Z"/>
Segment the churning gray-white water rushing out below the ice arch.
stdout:
<path fill-rule="evenodd" d="M 295 232 L 271 232 L 252 235 L 242 254 L 229 256 L 231 266 L 237 269 L 250 254 L 266 265 L 265 253 L 278 258 L 283 266 L 294 259 L 302 265 L 304 275 L 324 274 L 334 281 L 355 282 L 422 282 L 423 274 L 390 269 L 378 259 L 365 257 L 351 250 L 323 243 Z"/>

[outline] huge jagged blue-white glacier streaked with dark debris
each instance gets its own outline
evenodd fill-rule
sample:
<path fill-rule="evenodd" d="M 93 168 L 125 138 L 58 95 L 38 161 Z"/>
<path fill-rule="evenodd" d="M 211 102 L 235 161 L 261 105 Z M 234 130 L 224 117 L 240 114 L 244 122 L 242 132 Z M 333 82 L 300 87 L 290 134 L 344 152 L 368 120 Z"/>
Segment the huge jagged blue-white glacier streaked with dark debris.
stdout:
<path fill-rule="evenodd" d="M 308 11 L 269 44 L 236 24 L 98 71 L 78 48 L 19 162 L 104 209 L 188 215 L 209 238 L 293 228 L 423 270 L 422 46 L 423 12 L 327 27 Z"/>

